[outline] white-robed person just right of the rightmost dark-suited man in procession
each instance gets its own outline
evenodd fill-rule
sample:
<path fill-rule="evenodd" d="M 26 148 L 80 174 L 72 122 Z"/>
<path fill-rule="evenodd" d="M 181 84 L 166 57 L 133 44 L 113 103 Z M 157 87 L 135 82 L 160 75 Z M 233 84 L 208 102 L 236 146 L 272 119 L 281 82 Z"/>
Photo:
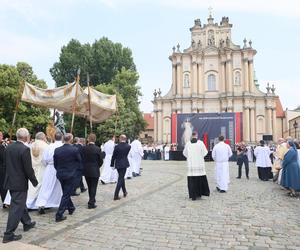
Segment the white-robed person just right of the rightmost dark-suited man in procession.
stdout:
<path fill-rule="evenodd" d="M 133 177 L 140 176 L 140 168 L 142 163 L 142 157 L 144 155 L 142 143 L 135 139 L 131 144 L 131 166 L 132 166 L 132 175 Z"/>

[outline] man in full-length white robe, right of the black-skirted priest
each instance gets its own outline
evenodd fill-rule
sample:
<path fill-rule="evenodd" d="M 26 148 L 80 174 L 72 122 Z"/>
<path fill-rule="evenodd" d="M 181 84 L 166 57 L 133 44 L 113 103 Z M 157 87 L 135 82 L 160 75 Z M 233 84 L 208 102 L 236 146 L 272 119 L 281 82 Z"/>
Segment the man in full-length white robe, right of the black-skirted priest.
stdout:
<path fill-rule="evenodd" d="M 228 190 L 229 178 L 229 158 L 232 156 L 232 150 L 224 142 L 224 136 L 219 136 L 219 143 L 216 144 L 212 151 L 212 158 L 215 161 L 215 179 L 217 190 L 220 193 L 226 193 Z"/>

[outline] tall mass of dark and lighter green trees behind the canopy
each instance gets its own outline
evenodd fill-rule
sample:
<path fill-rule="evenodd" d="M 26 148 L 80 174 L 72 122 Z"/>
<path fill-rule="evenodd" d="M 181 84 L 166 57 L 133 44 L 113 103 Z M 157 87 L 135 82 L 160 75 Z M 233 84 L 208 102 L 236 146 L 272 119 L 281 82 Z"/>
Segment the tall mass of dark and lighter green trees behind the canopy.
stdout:
<path fill-rule="evenodd" d="M 53 65 L 50 73 L 57 86 L 62 86 L 66 81 L 74 81 L 79 67 L 81 86 L 86 85 L 89 73 L 91 86 L 100 92 L 117 95 L 118 112 L 105 122 L 93 125 L 100 142 L 123 133 L 132 139 L 145 129 L 146 123 L 139 110 L 139 77 L 129 48 L 105 37 L 92 45 L 72 39 L 62 47 L 59 62 Z M 64 120 L 67 131 L 70 131 L 71 115 L 65 115 Z M 76 136 L 89 132 L 88 117 L 76 117 L 73 131 Z"/>

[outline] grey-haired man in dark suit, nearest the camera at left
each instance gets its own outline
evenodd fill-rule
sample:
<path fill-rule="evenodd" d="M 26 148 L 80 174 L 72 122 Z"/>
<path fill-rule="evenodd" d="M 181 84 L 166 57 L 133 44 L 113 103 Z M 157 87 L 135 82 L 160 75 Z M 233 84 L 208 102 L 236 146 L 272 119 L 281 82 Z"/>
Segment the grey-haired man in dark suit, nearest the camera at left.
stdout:
<path fill-rule="evenodd" d="M 17 130 L 16 136 L 17 142 L 10 144 L 4 153 L 6 168 L 4 188 L 10 191 L 11 202 L 3 243 L 22 238 L 22 235 L 14 234 L 20 221 L 23 223 L 25 232 L 35 226 L 35 222 L 31 221 L 26 208 L 28 180 L 34 187 L 38 185 L 32 168 L 30 149 L 24 145 L 29 132 L 26 128 L 20 128 Z"/>

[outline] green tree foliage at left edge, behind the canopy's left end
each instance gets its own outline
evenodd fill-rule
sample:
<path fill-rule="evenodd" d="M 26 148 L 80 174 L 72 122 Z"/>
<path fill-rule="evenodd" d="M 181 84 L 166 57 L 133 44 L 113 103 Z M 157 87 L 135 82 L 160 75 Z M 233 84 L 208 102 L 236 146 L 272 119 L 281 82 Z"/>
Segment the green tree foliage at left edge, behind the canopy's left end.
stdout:
<path fill-rule="evenodd" d="M 20 97 L 22 79 L 41 88 L 47 87 L 45 81 L 39 80 L 27 63 L 19 62 L 16 66 L 0 65 L 0 131 L 6 135 L 12 124 L 17 96 Z M 13 133 L 19 127 L 26 127 L 32 134 L 45 131 L 49 115 L 48 109 L 20 102 Z"/>

